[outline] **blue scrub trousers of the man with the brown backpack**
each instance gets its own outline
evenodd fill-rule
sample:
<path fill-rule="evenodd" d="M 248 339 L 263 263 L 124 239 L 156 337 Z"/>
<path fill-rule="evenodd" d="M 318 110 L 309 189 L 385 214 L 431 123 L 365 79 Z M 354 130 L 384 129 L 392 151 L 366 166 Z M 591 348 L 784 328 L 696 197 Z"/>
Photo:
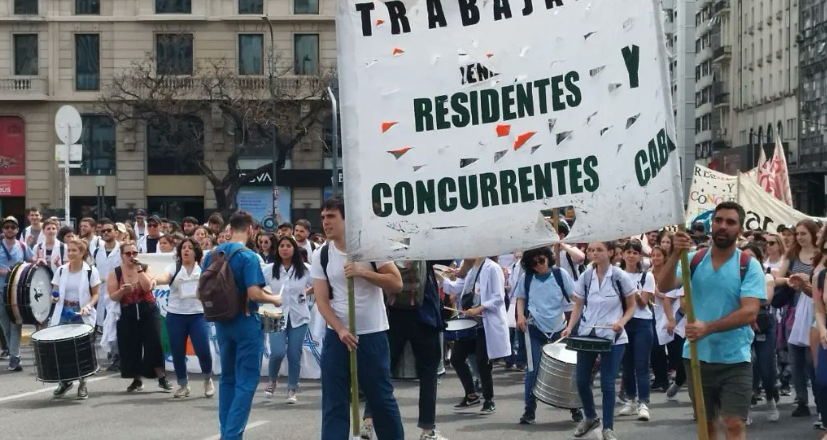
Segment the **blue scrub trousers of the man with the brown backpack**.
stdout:
<path fill-rule="evenodd" d="M 247 427 L 261 377 L 264 334 L 255 313 L 241 313 L 232 321 L 216 322 L 215 333 L 221 357 L 218 425 L 222 439 L 239 440 Z"/>

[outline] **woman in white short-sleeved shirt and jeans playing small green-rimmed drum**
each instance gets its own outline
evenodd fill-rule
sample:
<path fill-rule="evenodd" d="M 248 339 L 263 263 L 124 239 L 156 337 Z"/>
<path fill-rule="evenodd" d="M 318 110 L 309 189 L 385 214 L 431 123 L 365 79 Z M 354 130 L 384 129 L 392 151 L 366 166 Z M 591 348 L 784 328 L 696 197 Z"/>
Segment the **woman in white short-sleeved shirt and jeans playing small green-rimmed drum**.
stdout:
<path fill-rule="evenodd" d="M 588 255 L 592 260 L 592 267 L 586 269 L 575 283 L 572 296 L 574 311 L 566 329 L 560 334 L 562 337 L 568 337 L 572 334 L 574 324 L 579 322 L 580 336 L 594 335 L 608 339 L 612 344 L 608 352 L 577 352 L 575 382 L 580 401 L 583 403 L 585 419 L 577 425 L 575 437 L 583 437 L 600 425 L 591 386 L 592 369 L 599 356 L 600 390 L 603 395 L 603 440 L 617 440 L 614 433 L 615 378 L 629 341 L 625 326 L 635 313 L 636 301 L 635 285 L 621 269 L 611 264 L 611 247 L 613 246 L 604 242 L 589 244 Z"/>

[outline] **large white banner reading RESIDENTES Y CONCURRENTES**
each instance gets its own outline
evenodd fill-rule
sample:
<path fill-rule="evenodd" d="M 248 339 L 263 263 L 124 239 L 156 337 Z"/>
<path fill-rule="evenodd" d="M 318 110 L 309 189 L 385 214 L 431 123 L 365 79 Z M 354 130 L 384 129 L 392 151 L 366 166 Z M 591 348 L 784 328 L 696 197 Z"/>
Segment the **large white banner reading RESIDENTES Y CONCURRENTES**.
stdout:
<path fill-rule="evenodd" d="M 341 0 L 348 256 L 499 255 L 683 222 L 654 0 Z"/>

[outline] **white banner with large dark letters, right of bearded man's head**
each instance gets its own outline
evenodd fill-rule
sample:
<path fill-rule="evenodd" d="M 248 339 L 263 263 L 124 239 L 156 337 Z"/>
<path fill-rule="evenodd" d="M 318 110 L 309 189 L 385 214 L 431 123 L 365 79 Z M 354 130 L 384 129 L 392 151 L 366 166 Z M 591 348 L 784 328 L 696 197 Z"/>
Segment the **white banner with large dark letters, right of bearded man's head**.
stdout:
<path fill-rule="evenodd" d="M 804 219 L 818 220 L 776 199 L 745 175 L 738 176 L 738 203 L 747 213 L 744 228 L 775 232 L 780 225 L 794 225 Z"/>

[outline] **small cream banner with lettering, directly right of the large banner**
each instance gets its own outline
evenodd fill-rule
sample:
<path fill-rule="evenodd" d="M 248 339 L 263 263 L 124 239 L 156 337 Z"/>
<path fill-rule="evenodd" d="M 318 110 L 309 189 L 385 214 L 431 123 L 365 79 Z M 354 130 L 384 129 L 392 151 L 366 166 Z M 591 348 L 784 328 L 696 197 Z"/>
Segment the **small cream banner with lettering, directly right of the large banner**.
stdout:
<path fill-rule="evenodd" d="M 721 202 L 738 198 L 738 178 L 719 173 L 703 165 L 695 164 L 689 200 L 686 204 L 686 220 L 691 221 L 706 211 L 715 209 Z"/>

